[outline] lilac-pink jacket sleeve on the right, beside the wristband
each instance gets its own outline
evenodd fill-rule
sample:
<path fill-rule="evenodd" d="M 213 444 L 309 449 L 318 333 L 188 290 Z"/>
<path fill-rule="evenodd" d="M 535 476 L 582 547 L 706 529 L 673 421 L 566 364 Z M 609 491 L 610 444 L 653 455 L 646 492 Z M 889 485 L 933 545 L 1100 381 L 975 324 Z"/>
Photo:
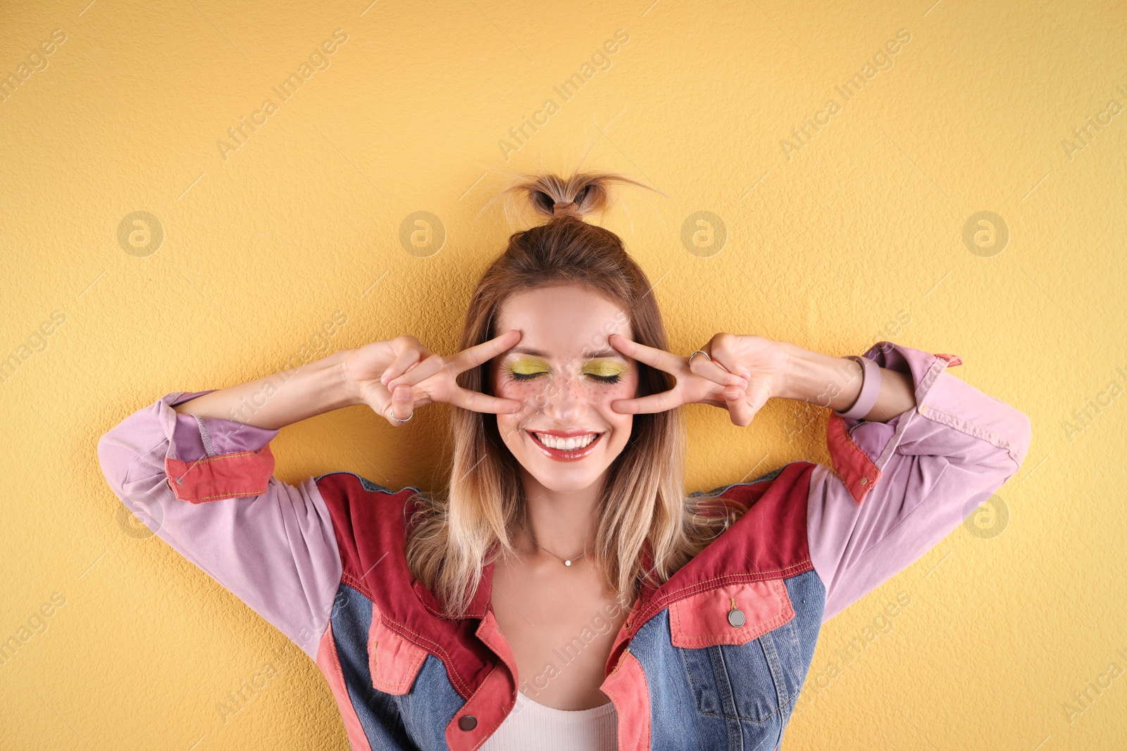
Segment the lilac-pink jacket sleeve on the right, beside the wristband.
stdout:
<path fill-rule="evenodd" d="M 1029 419 L 947 372 L 961 360 L 881 341 L 864 357 L 909 373 L 916 406 L 888 422 L 829 415 L 833 466 L 810 479 L 807 535 L 823 622 L 905 569 L 1017 474 Z"/>

